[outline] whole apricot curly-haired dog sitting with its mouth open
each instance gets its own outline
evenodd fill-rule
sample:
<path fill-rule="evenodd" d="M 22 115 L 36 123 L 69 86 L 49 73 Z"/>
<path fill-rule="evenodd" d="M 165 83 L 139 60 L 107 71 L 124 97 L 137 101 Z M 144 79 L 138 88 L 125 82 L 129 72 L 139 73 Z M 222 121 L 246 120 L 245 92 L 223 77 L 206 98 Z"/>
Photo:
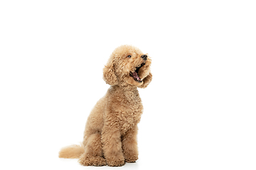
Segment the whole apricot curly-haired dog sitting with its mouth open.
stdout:
<path fill-rule="evenodd" d="M 137 87 L 152 79 L 151 59 L 137 47 L 117 47 L 105 68 L 107 94 L 92 109 L 85 125 L 82 146 L 60 150 L 61 158 L 79 158 L 82 165 L 122 166 L 138 159 L 137 124 L 143 112 Z"/>

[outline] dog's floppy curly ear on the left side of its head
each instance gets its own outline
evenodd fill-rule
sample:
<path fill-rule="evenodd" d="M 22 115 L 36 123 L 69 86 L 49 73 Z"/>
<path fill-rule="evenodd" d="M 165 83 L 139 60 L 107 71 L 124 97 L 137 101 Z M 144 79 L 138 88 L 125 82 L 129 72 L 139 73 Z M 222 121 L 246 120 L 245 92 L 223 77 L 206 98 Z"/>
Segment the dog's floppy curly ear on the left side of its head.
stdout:
<path fill-rule="evenodd" d="M 107 62 L 107 65 L 105 65 L 103 69 L 103 79 L 111 86 L 118 84 L 117 76 L 114 74 L 114 64 L 112 61 Z"/>

